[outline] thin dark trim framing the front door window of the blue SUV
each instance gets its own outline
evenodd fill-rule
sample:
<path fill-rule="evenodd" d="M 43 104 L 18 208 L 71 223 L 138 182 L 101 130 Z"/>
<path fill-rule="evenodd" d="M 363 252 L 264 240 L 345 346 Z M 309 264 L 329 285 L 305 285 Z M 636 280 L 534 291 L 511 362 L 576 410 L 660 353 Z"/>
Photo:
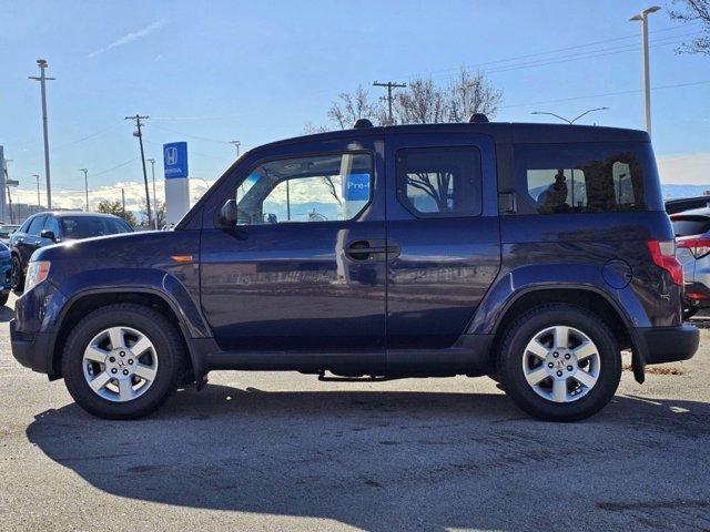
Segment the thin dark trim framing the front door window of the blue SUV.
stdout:
<path fill-rule="evenodd" d="M 252 175 L 254 173 L 254 171 L 264 165 L 264 164 L 268 164 L 268 163 L 273 163 L 276 161 L 290 161 L 290 160 L 294 160 L 294 158 L 308 158 L 308 157 L 327 157 L 327 156 L 333 156 L 333 155 L 358 155 L 358 154 L 364 154 L 367 155 L 369 157 L 369 190 L 371 190 L 371 194 L 369 194 L 369 200 L 367 201 L 367 203 L 365 205 L 363 205 L 363 207 L 357 212 L 357 214 L 355 216 L 353 216 L 352 218 L 347 218 L 347 219 L 326 219 L 325 222 L 307 222 L 307 221 L 286 221 L 286 222 L 277 222 L 275 224 L 253 224 L 253 225 L 236 225 L 234 228 L 235 229 L 243 229 L 243 231 L 248 231 L 248 228 L 252 227 L 277 227 L 280 225 L 287 225 L 290 227 L 293 227 L 294 225 L 307 225 L 307 226 L 314 226 L 316 225 L 317 227 L 325 227 L 328 224 L 329 225 L 335 225 L 335 224 L 343 224 L 343 223 L 349 223 L 349 222 L 359 222 L 361 218 L 363 217 L 363 214 L 365 213 L 365 211 L 367 211 L 367 208 L 369 208 L 373 204 L 373 202 L 375 201 L 375 157 L 376 157 L 376 153 L 372 150 L 335 150 L 335 151 L 318 151 L 318 152 L 304 152 L 304 153 L 300 153 L 297 155 L 275 155 L 273 157 L 264 157 L 260 161 L 257 161 L 256 163 L 254 163 L 253 165 L 248 166 L 248 171 L 246 171 L 244 173 L 244 175 L 237 177 L 234 181 L 234 186 L 231 187 L 232 191 L 236 191 L 236 188 L 240 187 L 240 185 L 244 182 L 244 180 L 246 180 L 250 175 Z M 272 188 L 273 190 L 273 188 Z M 232 192 L 231 194 L 229 194 L 226 196 L 226 198 L 234 198 L 236 197 L 234 195 L 234 192 Z M 224 202 L 222 202 L 222 204 L 224 204 Z M 220 229 L 221 226 L 217 223 L 217 218 L 220 216 L 220 207 L 222 206 L 222 204 L 220 204 L 220 206 L 217 206 L 217 208 L 215 208 L 213 217 L 212 217 L 212 224 L 214 226 L 214 228 Z"/>

